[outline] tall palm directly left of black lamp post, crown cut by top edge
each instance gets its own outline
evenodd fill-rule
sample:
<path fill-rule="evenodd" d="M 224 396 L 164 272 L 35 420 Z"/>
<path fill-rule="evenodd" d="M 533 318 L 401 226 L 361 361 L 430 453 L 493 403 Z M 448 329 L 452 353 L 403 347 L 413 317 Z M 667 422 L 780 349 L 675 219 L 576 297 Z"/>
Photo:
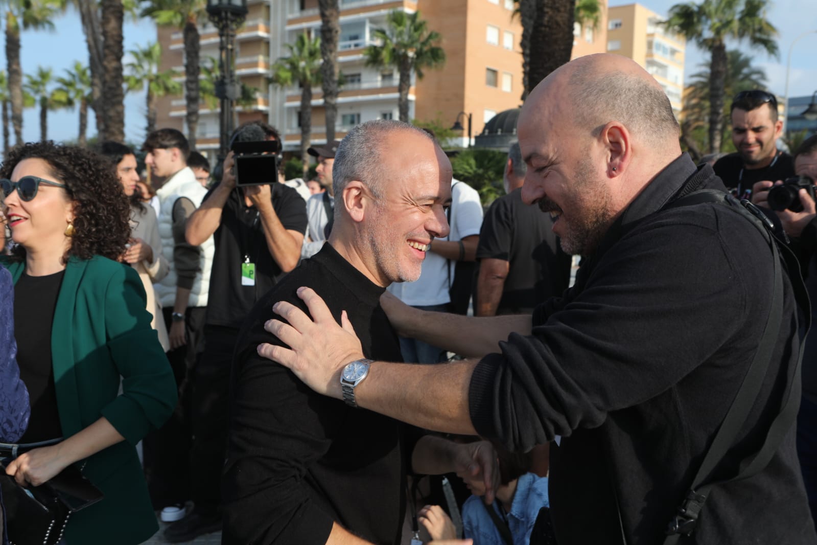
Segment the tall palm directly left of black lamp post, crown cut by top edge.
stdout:
<path fill-rule="evenodd" d="M 207 19 L 205 0 L 150 0 L 142 16 L 153 17 L 157 25 L 171 25 L 182 30 L 185 42 L 185 103 L 187 106 L 187 140 L 196 147 L 199 128 L 199 20 Z"/>

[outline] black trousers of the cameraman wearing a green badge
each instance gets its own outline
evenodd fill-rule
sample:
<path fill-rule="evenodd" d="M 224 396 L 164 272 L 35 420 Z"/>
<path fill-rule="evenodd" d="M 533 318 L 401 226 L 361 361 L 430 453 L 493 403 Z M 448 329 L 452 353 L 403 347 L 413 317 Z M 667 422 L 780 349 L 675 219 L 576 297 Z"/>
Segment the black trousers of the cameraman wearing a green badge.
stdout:
<path fill-rule="evenodd" d="M 221 471 L 227 450 L 230 408 L 230 368 L 238 336 L 236 328 L 205 326 L 203 351 L 199 353 L 192 375 L 191 491 L 195 511 L 204 516 L 217 515 L 221 504 Z"/>

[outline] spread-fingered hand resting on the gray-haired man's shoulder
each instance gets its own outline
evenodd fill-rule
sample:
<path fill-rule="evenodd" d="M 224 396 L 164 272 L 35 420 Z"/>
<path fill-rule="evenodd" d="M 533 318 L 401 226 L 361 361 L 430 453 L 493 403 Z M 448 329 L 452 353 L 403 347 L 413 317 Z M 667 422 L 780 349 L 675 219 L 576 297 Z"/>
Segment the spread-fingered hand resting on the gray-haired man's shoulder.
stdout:
<path fill-rule="evenodd" d="M 270 319 L 264 328 L 289 348 L 263 343 L 258 345 L 258 354 L 287 367 L 319 394 L 342 399 L 341 370 L 364 357 L 355 328 L 345 310 L 337 324 L 315 290 L 298 288 L 297 294 L 314 320 L 288 302 L 275 303 L 272 310 L 287 323 Z"/>

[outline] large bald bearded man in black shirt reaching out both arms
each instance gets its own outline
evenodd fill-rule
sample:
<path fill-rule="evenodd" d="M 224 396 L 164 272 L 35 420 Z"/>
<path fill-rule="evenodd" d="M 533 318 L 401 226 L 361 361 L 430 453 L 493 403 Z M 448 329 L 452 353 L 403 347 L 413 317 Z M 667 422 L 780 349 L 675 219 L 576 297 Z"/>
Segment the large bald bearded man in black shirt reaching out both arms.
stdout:
<path fill-rule="evenodd" d="M 805 288 L 784 271 L 797 263 L 751 205 L 681 152 L 667 96 L 630 59 L 554 70 L 525 101 L 518 134 L 522 198 L 555 218 L 565 252 L 587 257 L 576 283 L 527 316 L 384 298 L 400 333 L 471 359 L 373 362 L 357 403 L 515 451 L 555 441 L 560 545 L 817 542 L 793 427 L 808 303 L 798 309 Z M 266 327 L 289 348 L 258 351 L 340 398 L 359 345 L 317 294 L 300 295 L 312 319 L 277 303 L 288 324 Z"/>

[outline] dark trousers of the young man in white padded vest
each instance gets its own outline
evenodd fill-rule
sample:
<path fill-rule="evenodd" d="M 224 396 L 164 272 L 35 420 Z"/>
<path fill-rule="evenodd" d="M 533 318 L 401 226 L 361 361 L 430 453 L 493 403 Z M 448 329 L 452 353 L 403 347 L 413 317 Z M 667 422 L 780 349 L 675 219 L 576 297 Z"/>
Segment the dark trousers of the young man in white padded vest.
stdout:
<path fill-rule="evenodd" d="M 172 307 L 162 310 L 164 323 L 170 331 Z M 178 386 L 179 402 L 164 426 L 151 431 L 142 440 L 145 479 L 154 509 L 175 503 L 185 503 L 190 493 L 190 403 L 191 373 L 197 348 L 202 342 L 206 307 L 194 306 L 185 313 L 187 344 L 167 352 Z"/>

